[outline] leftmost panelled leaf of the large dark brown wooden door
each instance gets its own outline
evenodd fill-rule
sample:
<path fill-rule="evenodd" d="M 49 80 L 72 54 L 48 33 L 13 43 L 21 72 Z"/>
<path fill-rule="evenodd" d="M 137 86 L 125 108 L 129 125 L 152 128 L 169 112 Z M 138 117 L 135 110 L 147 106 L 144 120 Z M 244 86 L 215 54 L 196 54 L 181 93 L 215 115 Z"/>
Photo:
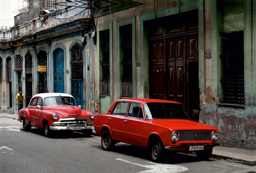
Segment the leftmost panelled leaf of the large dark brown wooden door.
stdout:
<path fill-rule="evenodd" d="M 152 42 L 150 48 L 150 98 L 164 100 L 164 40 Z"/>

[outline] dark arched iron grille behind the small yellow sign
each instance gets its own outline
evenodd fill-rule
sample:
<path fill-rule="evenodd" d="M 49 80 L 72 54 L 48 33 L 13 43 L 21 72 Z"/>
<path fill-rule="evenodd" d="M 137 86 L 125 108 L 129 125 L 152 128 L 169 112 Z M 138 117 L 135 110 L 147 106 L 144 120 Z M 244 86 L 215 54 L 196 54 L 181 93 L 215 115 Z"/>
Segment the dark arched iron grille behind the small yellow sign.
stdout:
<path fill-rule="evenodd" d="M 47 66 L 47 53 L 45 51 L 40 51 L 37 55 L 38 65 Z M 48 93 L 47 88 L 47 71 L 39 73 L 39 93 Z"/>

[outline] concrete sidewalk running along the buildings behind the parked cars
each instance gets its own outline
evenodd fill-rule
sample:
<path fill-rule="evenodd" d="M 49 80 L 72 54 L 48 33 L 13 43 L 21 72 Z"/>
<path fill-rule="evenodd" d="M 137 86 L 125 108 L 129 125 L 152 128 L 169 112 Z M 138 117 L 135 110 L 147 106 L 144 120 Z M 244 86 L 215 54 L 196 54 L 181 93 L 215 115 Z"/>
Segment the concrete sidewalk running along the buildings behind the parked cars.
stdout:
<path fill-rule="evenodd" d="M 0 118 L 10 118 L 17 120 L 17 114 L 1 113 Z M 1 121 L 1 119 L 0 119 Z M 100 136 L 93 130 L 93 136 Z M 229 148 L 229 147 L 213 147 L 212 159 L 225 160 L 229 162 L 235 162 L 245 164 L 249 166 L 256 165 L 256 150 L 245 150 L 240 148 Z"/>

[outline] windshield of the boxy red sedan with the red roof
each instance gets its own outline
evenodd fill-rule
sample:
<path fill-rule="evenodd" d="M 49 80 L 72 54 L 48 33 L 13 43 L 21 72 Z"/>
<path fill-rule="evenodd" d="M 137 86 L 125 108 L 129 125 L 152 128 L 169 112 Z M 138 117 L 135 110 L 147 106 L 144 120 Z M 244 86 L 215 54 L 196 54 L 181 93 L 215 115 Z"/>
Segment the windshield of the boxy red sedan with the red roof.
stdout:
<path fill-rule="evenodd" d="M 147 119 L 190 119 L 178 103 L 144 103 Z"/>

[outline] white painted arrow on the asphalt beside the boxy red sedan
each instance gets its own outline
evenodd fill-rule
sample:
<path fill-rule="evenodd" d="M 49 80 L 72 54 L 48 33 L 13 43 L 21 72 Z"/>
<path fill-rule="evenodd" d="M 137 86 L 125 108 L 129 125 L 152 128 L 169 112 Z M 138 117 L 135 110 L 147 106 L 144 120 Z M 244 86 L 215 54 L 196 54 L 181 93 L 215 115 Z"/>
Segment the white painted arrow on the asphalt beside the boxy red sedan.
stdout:
<path fill-rule="evenodd" d="M 188 170 L 188 168 L 184 166 L 179 166 L 179 165 L 162 164 L 162 163 L 154 163 L 154 162 L 148 162 L 148 163 L 153 163 L 154 165 L 141 165 L 141 164 L 129 162 L 123 159 L 116 159 L 116 160 L 126 162 L 126 163 L 131 163 L 133 165 L 141 166 L 144 168 L 148 168 L 148 170 L 140 171 L 138 173 L 178 173 L 178 172 L 184 172 Z"/>

